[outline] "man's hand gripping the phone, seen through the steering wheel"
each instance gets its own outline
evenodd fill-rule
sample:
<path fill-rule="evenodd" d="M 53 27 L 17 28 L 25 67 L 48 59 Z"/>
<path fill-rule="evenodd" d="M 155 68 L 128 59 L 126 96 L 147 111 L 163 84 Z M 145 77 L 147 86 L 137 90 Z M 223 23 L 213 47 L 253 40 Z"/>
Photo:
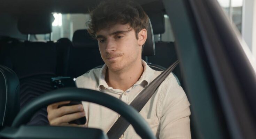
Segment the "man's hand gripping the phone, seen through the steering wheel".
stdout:
<path fill-rule="evenodd" d="M 68 104 L 70 101 L 62 101 L 59 103 L 54 103 L 48 105 L 48 120 L 50 125 L 55 126 L 79 126 L 85 127 L 86 125 L 77 125 L 77 124 L 69 124 L 69 122 L 73 120 L 77 120 L 81 117 L 85 116 L 83 105 L 72 105 L 72 106 L 62 106 L 60 108 L 59 105 Z"/>

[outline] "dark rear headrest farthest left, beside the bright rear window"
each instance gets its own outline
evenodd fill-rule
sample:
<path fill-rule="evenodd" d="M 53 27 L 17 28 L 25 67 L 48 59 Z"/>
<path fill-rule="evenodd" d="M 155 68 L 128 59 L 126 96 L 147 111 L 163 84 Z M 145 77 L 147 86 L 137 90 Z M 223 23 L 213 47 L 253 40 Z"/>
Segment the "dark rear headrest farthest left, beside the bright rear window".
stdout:
<path fill-rule="evenodd" d="M 25 15 L 18 19 L 18 30 L 22 34 L 47 34 L 52 32 L 52 14 Z"/>

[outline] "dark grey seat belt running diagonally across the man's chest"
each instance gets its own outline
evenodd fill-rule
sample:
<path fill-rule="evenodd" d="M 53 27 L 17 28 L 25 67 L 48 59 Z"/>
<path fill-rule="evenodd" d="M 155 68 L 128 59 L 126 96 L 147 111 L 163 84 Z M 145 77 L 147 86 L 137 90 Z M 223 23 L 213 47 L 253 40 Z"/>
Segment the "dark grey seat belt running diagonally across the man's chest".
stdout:
<path fill-rule="evenodd" d="M 155 91 L 158 89 L 160 84 L 165 80 L 165 78 L 173 71 L 173 69 L 178 65 L 179 60 L 174 62 L 168 69 L 163 71 L 158 75 L 149 85 L 144 88 L 139 95 L 132 101 L 130 106 L 135 108 L 138 112 L 146 105 L 148 100 L 152 97 Z M 124 131 L 130 125 L 122 116 L 120 116 L 114 125 L 110 128 L 107 135 L 109 139 L 119 139 Z"/>

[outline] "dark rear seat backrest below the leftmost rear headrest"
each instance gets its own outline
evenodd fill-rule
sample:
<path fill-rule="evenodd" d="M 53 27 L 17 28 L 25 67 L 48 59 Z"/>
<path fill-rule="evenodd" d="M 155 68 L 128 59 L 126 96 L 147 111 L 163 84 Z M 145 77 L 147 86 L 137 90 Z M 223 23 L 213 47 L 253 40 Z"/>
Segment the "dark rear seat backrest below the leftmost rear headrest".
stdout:
<path fill-rule="evenodd" d="M 53 42 L 20 42 L 6 47 L 1 64 L 11 68 L 21 84 L 20 106 L 53 90 L 51 77 L 56 76 L 56 47 Z M 48 124 L 46 108 L 40 110 L 29 124 Z"/>

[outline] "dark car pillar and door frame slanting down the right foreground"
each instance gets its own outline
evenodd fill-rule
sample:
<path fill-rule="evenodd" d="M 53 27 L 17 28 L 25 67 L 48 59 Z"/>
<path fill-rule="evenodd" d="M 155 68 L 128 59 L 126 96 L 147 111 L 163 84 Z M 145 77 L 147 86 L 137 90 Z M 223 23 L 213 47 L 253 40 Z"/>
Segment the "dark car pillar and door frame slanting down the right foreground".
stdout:
<path fill-rule="evenodd" d="M 217 0 L 163 0 L 191 103 L 192 138 L 256 138 L 256 74 Z"/>

